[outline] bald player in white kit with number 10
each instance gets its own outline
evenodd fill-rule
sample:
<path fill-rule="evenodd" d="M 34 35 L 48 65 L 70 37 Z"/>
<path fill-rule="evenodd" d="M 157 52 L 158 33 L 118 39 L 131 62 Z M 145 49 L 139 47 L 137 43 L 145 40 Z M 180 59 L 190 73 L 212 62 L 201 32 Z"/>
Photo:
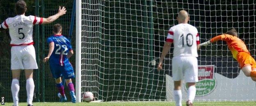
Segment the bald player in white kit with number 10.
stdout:
<path fill-rule="evenodd" d="M 174 100 L 176 106 L 181 106 L 181 80 L 185 79 L 188 85 L 187 106 L 193 106 L 196 95 L 195 84 L 198 82 L 197 49 L 199 49 L 199 34 L 197 28 L 187 24 L 189 16 L 187 11 L 178 13 L 178 25 L 169 29 L 167 40 L 162 50 L 158 71 L 162 69 L 165 55 L 174 43 L 174 57 L 172 58 L 172 77 L 174 80 Z"/>

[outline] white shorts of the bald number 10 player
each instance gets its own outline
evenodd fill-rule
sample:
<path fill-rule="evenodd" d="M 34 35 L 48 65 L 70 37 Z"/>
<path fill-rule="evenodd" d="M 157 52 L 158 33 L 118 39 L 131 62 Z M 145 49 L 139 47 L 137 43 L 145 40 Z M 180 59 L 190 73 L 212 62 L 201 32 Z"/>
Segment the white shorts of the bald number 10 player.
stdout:
<path fill-rule="evenodd" d="M 175 56 L 172 58 L 172 78 L 174 81 L 198 82 L 197 57 Z"/>

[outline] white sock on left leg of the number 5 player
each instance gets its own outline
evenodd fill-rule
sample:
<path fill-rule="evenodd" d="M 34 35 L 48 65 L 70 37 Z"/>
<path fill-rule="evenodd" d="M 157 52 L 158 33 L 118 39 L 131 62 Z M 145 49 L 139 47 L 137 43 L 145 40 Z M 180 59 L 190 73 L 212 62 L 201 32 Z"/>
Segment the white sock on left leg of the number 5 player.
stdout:
<path fill-rule="evenodd" d="M 18 106 L 18 91 L 20 91 L 20 84 L 18 82 L 18 79 L 12 79 L 11 82 L 11 94 L 12 99 L 14 100 L 14 105 Z"/>

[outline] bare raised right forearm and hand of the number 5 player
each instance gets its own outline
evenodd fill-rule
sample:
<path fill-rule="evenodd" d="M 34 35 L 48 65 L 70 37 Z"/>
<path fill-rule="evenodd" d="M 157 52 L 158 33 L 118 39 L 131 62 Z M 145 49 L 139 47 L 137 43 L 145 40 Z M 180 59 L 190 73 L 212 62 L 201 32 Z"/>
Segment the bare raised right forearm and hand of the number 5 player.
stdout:
<path fill-rule="evenodd" d="M 55 15 L 52 15 L 48 18 L 43 18 L 43 23 L 42 24 L 49 24 L 55 20 L 57 20 L 60 16 L 64 15 L 66 13 L 66 8 L 65 7 L 60 7 L 59 6 L 59 11 Z"/>

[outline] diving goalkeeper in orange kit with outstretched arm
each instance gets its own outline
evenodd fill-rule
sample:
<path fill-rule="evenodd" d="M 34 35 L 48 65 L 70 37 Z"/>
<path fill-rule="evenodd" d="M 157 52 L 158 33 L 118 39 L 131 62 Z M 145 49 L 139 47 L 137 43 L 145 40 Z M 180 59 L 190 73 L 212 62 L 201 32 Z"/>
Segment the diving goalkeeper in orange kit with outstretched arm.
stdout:
<path fill-rule="evenodd" d="M 199 44 L 199 46 L 207 46 L 218 40 L 226 41 L 234 59 L 238 61 L 245 76 L 251 77 L 253 81 L 256 81 L 256 62 L 254 58 L 251 57 L 245 43 L 238 38 L 237 31 L 231 29 L 222 35 L 218 35 L 207 42 Z"/>

